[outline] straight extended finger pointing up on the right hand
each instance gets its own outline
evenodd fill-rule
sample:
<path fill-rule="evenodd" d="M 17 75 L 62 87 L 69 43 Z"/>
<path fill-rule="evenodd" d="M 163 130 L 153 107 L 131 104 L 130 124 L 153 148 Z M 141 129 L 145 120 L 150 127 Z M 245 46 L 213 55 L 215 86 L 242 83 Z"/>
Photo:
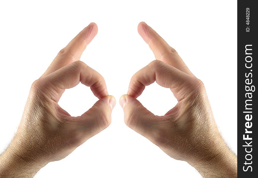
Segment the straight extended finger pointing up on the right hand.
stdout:
<path fill-rule="evenodd" d="M 138 33 L 149 45 L 156 59 L 168 63 L 169 65 L 174 66 L 175 68 L 189 75 L 193 75 L 176 50 L 170 47 L 168 43 L 165 42 L 165 40 L 145 22 L 139 23 Z"/>

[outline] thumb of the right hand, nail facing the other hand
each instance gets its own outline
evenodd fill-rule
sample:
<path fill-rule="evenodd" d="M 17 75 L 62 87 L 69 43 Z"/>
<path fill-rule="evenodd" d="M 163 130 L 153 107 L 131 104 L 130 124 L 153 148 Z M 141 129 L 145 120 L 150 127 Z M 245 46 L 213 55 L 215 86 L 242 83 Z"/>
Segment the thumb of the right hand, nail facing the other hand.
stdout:
<path fill-rule="evenodd" d="M 159 116 L 147 110 L 137 99 L 122 95 L 120 105 L 124 109 L 124 120 L 128 127 L 145 136 L 155 138 L 153 130 L 158 129 Z"/>

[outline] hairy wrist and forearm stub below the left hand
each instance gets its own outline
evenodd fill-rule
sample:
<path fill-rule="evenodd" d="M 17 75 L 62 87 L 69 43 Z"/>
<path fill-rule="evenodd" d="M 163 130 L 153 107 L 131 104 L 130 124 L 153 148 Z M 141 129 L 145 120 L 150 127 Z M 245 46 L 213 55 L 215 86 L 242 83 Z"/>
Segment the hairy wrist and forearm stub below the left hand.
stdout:
<path fill-rule="evenodd" d="M 34 177 L 44 163 L 26 160 L 14 148 L 8 147 L 0 156 L 0 177 Z"/>

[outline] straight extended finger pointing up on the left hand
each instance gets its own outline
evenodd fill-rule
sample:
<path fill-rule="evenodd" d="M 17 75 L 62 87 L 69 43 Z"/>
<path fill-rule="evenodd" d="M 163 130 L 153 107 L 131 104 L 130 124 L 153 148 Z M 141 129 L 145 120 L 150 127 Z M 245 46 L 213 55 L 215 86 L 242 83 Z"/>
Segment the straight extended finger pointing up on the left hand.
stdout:
<path fill-rule="evenodd" d="M 52 72 L 66 66 L 74 61 L 80 60 L 82 52 L 85 50 L 87 45 L 91 42 L 94 36 L 98 32 L 98 27 L 95 23 L 90 23 L 85 27 L 69 44 L 64 47 L 58 55 L 55 57 L 53 62 L 50 64 L 48 69 L 42 76 L 51 74 Z"/>

